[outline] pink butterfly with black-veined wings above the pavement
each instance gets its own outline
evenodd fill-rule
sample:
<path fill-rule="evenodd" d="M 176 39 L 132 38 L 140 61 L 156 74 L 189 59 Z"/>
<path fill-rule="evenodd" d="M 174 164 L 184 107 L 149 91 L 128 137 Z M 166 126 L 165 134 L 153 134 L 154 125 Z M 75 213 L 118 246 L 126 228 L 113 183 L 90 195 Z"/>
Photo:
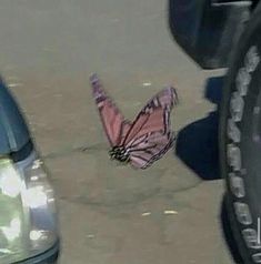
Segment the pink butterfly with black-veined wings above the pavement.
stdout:
<path fill-rule="evenodd" d="M 131 123 L 106 94 L 97 74 L 91 75 L 90 82 L 112 148 L 109 152 L 111 159 L 130 162 L 137 169 L 145 169 L 172 146 L 174 134 L 170 129 L 170 111 L 178 102 L 175 89 L 165 88 L 160 91 Z"/>

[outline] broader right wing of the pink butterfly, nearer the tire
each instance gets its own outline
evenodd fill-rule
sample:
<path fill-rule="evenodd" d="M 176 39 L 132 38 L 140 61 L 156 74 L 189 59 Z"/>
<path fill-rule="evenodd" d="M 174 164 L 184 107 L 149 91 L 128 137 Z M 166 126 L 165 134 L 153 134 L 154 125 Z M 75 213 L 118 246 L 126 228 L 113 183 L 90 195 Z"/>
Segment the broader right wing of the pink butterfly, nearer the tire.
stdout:
<path fill-rule="evenodd" d="M 170 129 L 170 111 L 177 102 L 177 91 L 167 88 L 138 114 L 123 141 L 134 167 L 148 167 L 171 148 L 174 136 Z"/>

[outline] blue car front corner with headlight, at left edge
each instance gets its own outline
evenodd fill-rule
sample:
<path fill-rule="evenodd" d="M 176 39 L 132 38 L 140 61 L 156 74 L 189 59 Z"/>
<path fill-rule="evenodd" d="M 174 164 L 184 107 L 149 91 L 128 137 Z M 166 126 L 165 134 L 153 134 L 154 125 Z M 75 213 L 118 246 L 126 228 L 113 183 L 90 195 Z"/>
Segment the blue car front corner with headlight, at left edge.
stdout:
<path fill-rule="evenodd" d="M 0 80 L 0 263 L 54 264 L 53 187 L 13 95 Z"/>

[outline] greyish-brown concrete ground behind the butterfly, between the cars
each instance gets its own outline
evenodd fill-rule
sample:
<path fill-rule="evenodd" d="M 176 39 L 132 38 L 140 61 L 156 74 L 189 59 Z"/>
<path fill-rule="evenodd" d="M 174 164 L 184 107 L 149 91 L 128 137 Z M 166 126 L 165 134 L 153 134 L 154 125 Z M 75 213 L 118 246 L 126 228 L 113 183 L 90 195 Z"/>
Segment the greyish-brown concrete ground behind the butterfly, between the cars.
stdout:
<path fill-rule="evenodd" d="M 2 0 L 0 51 L 52 173 L 61 264 L 232 263 L 220 227 L 223 182 L 201 180 L 173 152 L 145 171 L 116 165 L 91 98 L 88 78 L 98 72 L 130 119 L 165 84 L 179 90 L 175 131 L 215 109 L 203 90 L 217 73 L 173 42 L 167 2 Z"/>

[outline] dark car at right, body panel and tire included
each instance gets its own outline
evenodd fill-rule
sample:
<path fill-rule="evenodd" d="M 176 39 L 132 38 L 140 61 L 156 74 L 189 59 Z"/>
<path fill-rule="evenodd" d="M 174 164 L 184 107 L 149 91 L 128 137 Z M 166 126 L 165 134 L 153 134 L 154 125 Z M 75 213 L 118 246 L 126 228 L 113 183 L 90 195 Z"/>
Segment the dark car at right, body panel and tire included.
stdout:
<path fill-rule="evenodd" d="M 201 68 L 228 68 L 219 123 L 225 209 L 238 263 L 261 263 L 261 0 L 169 0 L 169 24 Z"/>

